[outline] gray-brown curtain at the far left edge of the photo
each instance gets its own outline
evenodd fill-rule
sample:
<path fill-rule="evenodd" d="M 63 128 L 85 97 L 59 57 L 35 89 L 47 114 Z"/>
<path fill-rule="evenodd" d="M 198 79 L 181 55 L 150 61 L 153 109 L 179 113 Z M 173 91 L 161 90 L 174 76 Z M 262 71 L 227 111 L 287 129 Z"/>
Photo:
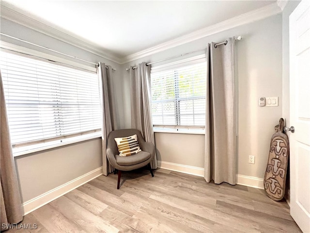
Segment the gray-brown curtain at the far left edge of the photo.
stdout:
<path fill-rule="evenodd" d="M 16 168 L 12 153 L 8 119 L 0 72 L 0 226 L 1 231 L 8 223 L 18 223 L 23 220 L 20 192 L 17 183 Z M 3 224 L 3 225 L 2 225 Z"/>

